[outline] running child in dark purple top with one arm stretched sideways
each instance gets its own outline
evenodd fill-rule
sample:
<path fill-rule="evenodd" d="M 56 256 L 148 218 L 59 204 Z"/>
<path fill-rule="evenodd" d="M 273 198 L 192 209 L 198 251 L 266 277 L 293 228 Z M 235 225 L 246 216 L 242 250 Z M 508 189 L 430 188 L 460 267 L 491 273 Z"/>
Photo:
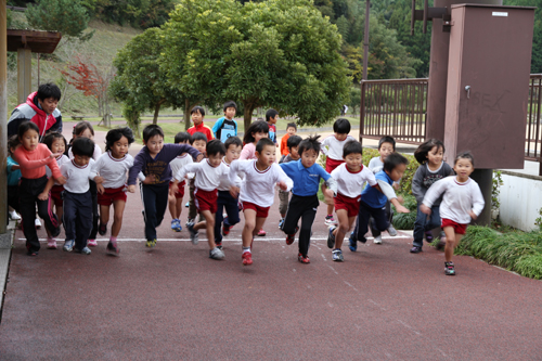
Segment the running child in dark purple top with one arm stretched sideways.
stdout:
<path fill-rule="evenodd" d="M 157 125 L 143 129 L 143 149 L 133 160 L 128 175 L 128 191 L 136 192 L 136 179 L 140 171 L 146 177 L 140 183 L 145 220 L 146 246 L 156 246 L 156 228 L 160 225 L 168 205 L 171 168 L 169 163 L 182 153 L 189 153 L 197 160 L 203 158 L 194 147 L 186 144 L 164 144 L 164 130 Z"/>

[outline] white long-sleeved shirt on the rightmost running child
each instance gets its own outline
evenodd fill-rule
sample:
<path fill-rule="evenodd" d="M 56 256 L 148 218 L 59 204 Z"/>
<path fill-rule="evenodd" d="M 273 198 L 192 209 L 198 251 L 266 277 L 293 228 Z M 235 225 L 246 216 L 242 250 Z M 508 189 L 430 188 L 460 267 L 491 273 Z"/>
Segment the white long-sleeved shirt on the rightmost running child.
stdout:
<path fill-rule="evenodd" d="M 483 210 L 483 195 L 478 183 L 470 178 L 460 183 L 457 176 L 450 176 L 435 182 L 425 193 L 424 205 L 431 207 L 441 194 L 440 218 L 451 219 L 460 224 L 470 223 L 470 209 L 476 216 Z"/>

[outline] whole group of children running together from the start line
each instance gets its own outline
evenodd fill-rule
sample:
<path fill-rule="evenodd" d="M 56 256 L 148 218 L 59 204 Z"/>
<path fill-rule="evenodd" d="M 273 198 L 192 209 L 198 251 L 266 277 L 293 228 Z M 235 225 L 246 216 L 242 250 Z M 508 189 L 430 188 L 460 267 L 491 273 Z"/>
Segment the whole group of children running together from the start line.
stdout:
<path fill-rule="evenodd" d="M 242 210 L 242 262 L 245 266 L 253 263 L 254 237 L 264 234 L 263 225 L 273 205 L 275 186 L 282 218 L 279 227 L 288 245 L 299 232 L 298 260 L 302 263 L 310 262 L 308 253 L 320 188 L 327 204 L 327 245 L 332 248 L 334 261 L 344 261 L 341 245 L 347 235 L 349 249 L 356 252 L 358 242 L 366 242 L 369 228 L 376 244 L 382 243 L 380 233 L 384 231 L 397 234 L 391 227 L 389 204 L 399 212 L 409 211 L 395 193 L 408 160 L 395 152 L 392 138 L 380 140 L 379 157 L 372 159 L 366 167 L 362 164 L 361 143 L 349 136 L 347 119 L 337 119 L 334 134 L 322 143 L 319 136 L 301 139 L 296 136 L 296 125 L 288 124 L 278 155 L 276 111 L 268 111 L 266 121 L 253 123 L 243 141 L 236 137 L 235 103 L 225 103 L 223 111 L 224 117 L 210 129 L 203 121 L 204 108 L 194 107 L 191 112 L 194 126 L 188 132 L 178 133 L 176 144 L 164 143 L 159 126 L 146 126 L 143 129 L 144 146 L 136 157 L 128 154 L 134 141 L 129 128 L 109 130 L 105 152 L 101 154 L 92 141 L 92 126 L 87 121 L 74 128 L 70 144 L 60 133 L 49 133 L 40 143 L 37 127 L 31 121 L 22 124 L 18 134 L 10 143 L 12 163 L 18 163 L 21 167 L 18 203 L 10 201 L 10 205 L 13 204 L 22 215 L 28 254 L 35 256 L 40 249 L 34 224 L 36 206 L 39 217 L 46 221 L 49 248 L 56 248 L 54 237 L 63 223 L 66 233 L 63 249 L 90 254 L 89 246 L 95 246 L 93 232 L 101 235 L 107 232 L 113 205 L 113 224 L 106 249 L 118 255 L 117 236 L 126 192 L 136 192 L 138 179 L 146 246 L 151 248 L 156 246 L 156 228 L 160 225 L 168 205 L 171 229 L 182 230 L 180 215 L 186 180 L 190 238 L 197 244 L 199 230 L 206 230 L 212 259 L 225 257 L 222 237 L 240 222 Z M 326 156 L 325 169 L 318 163 L 321 153 Z M 468 177 L 474 170 L 472 155 L 457 155 L 452 169 L 442 160 L 444 146 L 438 140 L 425 142 L 415 152 L 422 165 L 412 185 L 418 212 L 411 253 L 422 252 L 424 235 L 430 242 L 430 231 L 442 227 L 446 273 L 454 274 L 453 249 L 470 218 L 481 212 L 483 198 L 477 183 Z M 334 211 L 338 222 L 333 217 Z"/>

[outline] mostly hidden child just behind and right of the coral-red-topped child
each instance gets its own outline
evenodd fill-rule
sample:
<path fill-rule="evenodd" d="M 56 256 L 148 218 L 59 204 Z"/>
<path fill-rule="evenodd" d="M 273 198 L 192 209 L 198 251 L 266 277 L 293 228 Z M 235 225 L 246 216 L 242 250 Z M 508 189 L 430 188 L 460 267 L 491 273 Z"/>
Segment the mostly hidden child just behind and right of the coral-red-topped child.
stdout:
<path fill-rule="evenodd" d="M 66 155 L 64 155 L 67 145 L 64 136 L 55 131 L 50 132 L 46 134 L 46 137 L 43 138 L 43 143 L 51 151 L 51 153 L 60 154 L 56 157 L 56 165 L 59 166 L 59 169 L 62 167 L 63 164 L 69 162 L 69 158 Z M 59 218 L 59 224 L 62 224 L 64 202 L 62 201 L 61 193 L 64 191 L 64 185 L 59 184 L 59 182 L 54 181 L 51 169 L 49 167 L 46 168 L 46 175 L 49 178 L 49 181 L 52 182 L 52 184 L 48 184 L 47 186 L 47 189 L 51 189 L 50 193 L 51 210 L 55 210 L 56 218 Z M 47 231 L 47 248 L 56 249 L 56 240 L 51 236 L 49 230 L 46 229 L 46 231 Z"/>

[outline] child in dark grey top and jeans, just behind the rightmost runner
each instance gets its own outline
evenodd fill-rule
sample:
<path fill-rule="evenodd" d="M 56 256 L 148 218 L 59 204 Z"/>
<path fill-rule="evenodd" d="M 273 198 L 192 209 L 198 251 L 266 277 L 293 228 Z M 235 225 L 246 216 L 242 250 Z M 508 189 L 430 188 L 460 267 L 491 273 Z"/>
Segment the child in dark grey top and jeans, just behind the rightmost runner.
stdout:
<path fill-rule="evenodd" d="M 420 209 L 427 190 L 437 181 L 453 175 L 452 167 L 442 160 L 442 157 L 444 156 L 444 144 L 438 139 L 429 139 L 425 141 L 414 152 L 414 156 L 421 166 L 417 167 L 417 170 L 412 178 L 412 194 L 417 201 L 417 215 L 414 223 L 414 241 L 412 242 L 413 247 L 410 249 L 411 254 L 422 252 L 422 246 L 424 245 L 424 233 L 425 240 L 428 243 L 431 243 L 431 230 L 440 227 L 441 224 L 439 207 L 442 202 L 442 197 L 439 197 L 433 203 L 430 217 L 427 217 L 427 215 L 422 212 Z M 440 242 L 442 244 L 446 242 L 444 238 L 446 233 L 444 231 L 441 231 Z"/>

